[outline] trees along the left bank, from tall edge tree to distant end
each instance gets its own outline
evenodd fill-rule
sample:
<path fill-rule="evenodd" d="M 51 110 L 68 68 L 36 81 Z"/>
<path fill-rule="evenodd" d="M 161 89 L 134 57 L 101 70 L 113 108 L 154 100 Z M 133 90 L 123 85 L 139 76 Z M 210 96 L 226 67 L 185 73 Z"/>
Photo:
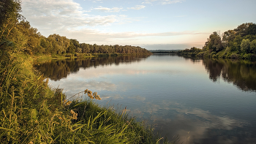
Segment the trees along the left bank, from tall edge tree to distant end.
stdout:
<path fill-rule="evenodd" d="M 61 55 L 65 53 L 150 53 L 131 45 L 90 45 L 59 34 L 42 36 L 20 15 L 20 1 L 0 2 L 1 48 L 15 45 L 19 51 L 31 54 Z"/>

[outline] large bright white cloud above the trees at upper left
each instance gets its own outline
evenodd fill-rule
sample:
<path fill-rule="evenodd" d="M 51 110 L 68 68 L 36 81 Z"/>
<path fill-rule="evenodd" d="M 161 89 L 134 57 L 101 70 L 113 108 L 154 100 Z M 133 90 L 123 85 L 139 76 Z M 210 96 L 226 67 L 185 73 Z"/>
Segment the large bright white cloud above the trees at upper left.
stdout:
<path fill-rule="evenodd" d="M 49 29 L 72 29 L 78 26 L 109 25 L 117 21 L 116 15 L 89 15 L 72 0 L 23 0 L 23 15 L 32 26 Z M 118 11 L 113 8 L 112 11 Z"/>

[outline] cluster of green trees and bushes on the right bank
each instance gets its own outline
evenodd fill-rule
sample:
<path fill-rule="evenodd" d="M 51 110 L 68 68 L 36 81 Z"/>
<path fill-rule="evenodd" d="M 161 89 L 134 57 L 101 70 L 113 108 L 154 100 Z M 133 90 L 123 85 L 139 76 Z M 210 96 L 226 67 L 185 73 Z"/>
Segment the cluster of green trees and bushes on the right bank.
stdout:
<path fill-rule="evenodd" d="M 225 31 L 222 36 L 214 31 L 203 49 L 191 48 L 182 50 L 178 54 L 213 58 L 244 58 L 256 61 L 256 24 L 243 23 L 236 29 Z"/>

